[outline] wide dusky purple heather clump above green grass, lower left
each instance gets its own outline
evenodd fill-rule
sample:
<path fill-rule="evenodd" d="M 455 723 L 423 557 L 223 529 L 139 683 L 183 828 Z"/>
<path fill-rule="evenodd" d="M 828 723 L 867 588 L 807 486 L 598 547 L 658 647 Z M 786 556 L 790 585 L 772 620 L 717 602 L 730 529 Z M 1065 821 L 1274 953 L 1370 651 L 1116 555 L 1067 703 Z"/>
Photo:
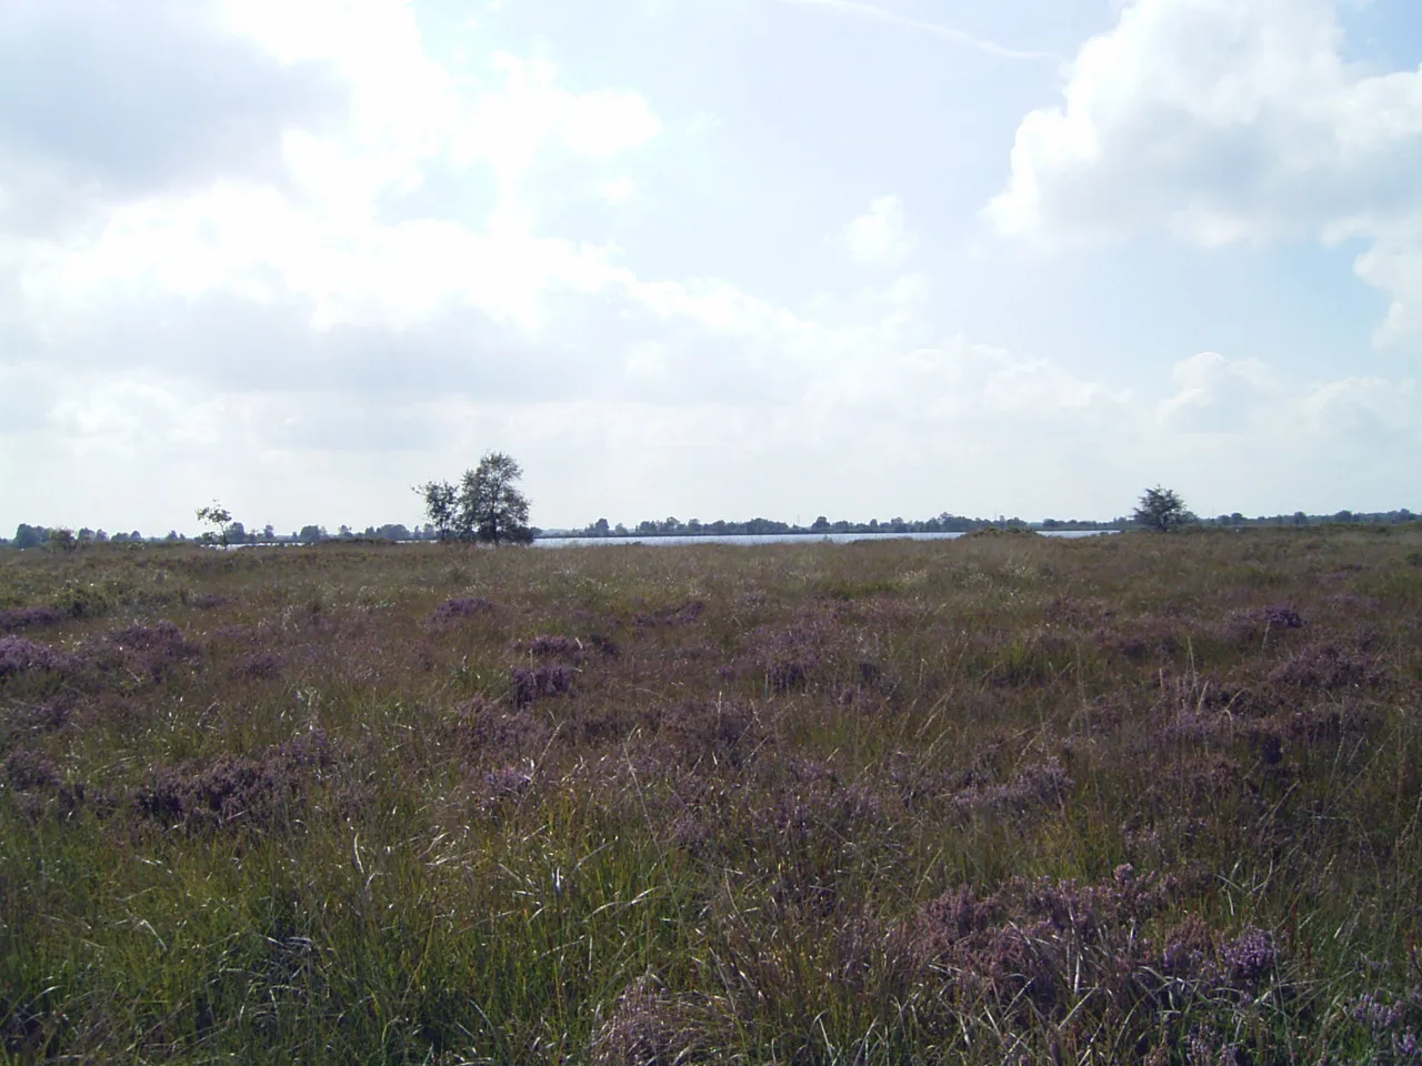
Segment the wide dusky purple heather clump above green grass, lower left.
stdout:
<path fill-rule="evenodd" d="M 324 733 L 269 748 L 257 758 L 223 756 L 156 770 L 134 795 L 134 812 L 189 834 L 222 829 L 284 829 L 321 770 L 336 765 Z"/>

